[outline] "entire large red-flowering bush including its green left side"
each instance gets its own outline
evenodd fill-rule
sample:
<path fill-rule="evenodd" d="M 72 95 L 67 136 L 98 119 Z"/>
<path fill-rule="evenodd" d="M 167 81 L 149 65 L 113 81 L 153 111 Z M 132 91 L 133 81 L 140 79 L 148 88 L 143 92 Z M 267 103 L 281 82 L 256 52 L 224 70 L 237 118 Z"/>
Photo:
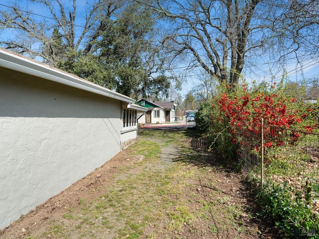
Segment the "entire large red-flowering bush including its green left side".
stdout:
<path fill-rule="evenodd" d="M 220 93 L 210 104 L 199 108 L 195 120 L 207 137 L 210 149 L 225 162 L 238 159 L 239 147 L 246 147 L 248 152 L 260 152 L 262 118 L 264 146 L 267 148 L 295 144 L 300 139 L 300 133 L 284 132 L 282 128 L 308 132 L 317 129 L 317 110 L 313 111 L 300 98 L 297 99 L 300 92 L 291 94 L 283 83 L 266 87 L 244 84 L 236 92 L 228 86 L 217 89 Z"/>

